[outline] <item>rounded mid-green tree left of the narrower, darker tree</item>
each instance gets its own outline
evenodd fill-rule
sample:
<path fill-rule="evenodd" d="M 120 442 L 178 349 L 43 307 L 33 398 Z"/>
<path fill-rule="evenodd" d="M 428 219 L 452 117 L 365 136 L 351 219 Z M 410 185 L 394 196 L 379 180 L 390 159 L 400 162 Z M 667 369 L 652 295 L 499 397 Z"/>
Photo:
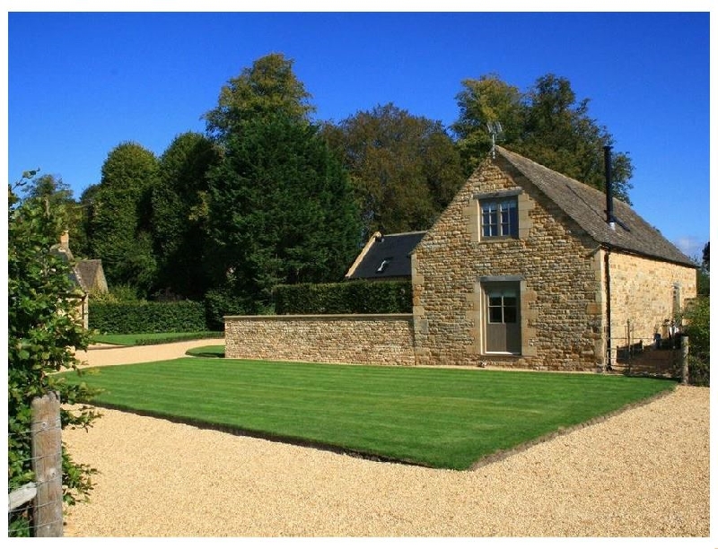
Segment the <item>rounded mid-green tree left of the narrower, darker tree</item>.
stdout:
<path fill-rule="evenodd" d="M 153 153 L 140 144 L 119 144 L 102 165 L 88 220 L 92 255 L 102 259 L 108 282 L 133 285 L 145 295 L 156 283 L 151 196 L 158 173 Z"/>

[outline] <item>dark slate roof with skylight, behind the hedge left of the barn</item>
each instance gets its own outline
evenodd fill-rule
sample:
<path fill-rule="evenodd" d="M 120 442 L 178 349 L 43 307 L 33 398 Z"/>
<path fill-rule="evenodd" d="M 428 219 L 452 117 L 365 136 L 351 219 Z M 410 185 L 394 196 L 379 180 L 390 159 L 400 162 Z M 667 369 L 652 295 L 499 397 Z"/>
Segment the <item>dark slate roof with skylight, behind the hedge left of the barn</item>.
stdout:
<path fill-rule="evenodd" d="M 426 231 L 375 233 L 346 274 L 346 279 L 411 278 L 411 253 Z"/>

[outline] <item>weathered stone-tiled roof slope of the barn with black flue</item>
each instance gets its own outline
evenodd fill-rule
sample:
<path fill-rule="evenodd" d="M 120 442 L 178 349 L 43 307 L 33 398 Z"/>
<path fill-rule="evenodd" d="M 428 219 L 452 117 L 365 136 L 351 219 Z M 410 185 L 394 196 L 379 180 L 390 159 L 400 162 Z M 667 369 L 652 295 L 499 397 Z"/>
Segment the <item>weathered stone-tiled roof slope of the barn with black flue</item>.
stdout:
<path fill-rule="evenodd" d="M 610 248 L 656 257 L 673 263 L 696 266 L 695 262 L 635 213 L 625 202 L 614 198 L 616 230 L 606 222 L 606 195 L 603 191 L 571 179 L 520 154 L 496 147 L 497 158 L 507 161 L 558 205 L 593 240 Z"/>

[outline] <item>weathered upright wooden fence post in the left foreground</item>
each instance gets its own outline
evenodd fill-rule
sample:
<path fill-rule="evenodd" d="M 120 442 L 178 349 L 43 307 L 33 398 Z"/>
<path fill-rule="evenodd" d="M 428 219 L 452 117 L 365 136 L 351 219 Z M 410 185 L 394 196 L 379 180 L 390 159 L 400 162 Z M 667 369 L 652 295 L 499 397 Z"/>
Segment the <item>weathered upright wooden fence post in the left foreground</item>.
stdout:
<path fill-rule="evenodd" d="M 36 537 L 62 537 L 62 425 L 60 399 L 48 393 L 32 401 L 32 466 L 38 493 Z"/>

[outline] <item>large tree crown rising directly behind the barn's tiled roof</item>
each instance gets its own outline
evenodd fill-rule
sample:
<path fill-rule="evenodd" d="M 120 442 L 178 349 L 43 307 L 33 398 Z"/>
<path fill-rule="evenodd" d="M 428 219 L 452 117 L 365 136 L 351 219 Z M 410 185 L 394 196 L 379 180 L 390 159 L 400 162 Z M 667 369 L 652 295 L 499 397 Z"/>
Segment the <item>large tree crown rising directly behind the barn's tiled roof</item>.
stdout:
<path fill-rule="evenodd" d="M 613 136 L 589 116 L 589 100 L 578 100 L 567 79 L 546 74 L 524 93 L 496 75 L 462 85 L 457 95 L 460 117 L 451 127 L 468 170 L 486 157 L 491 147 L 488 126 L 499 122 L 500 144 L 593 187 L 605 187 L 603 148 L 614 145 Z M 626 202 L 632 174 L 628 154 L 613 153 L 615 195 Z"/>

